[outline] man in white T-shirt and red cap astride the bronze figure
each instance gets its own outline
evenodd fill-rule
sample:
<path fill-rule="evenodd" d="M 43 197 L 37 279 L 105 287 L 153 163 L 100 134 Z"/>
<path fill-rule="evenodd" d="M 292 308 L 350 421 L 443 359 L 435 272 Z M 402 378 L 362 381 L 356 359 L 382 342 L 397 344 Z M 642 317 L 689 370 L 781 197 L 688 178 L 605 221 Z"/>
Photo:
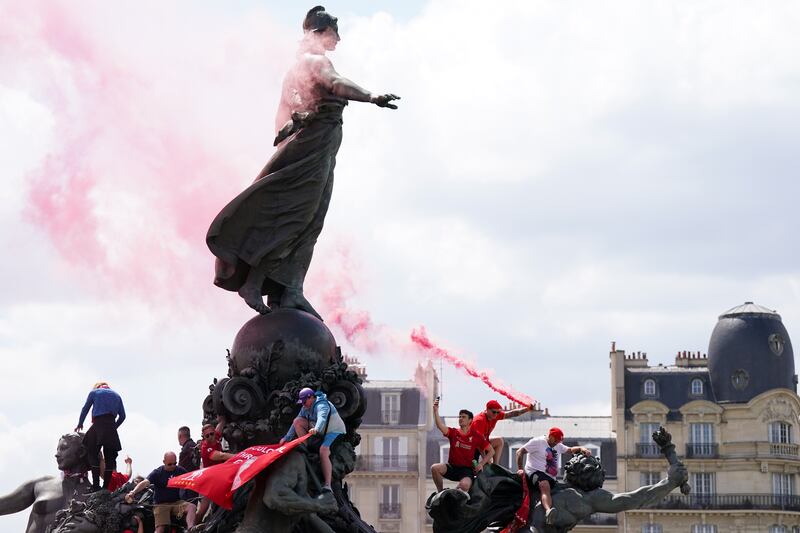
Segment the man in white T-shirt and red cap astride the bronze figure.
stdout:
<path fill-rule="evenodd" d="M 553 498 L 550 494 L 556 484 L 556 476 L 561 464 L 561 455 L 565 452 L 572 454 L 581 453 L 592 455 L 588 448 L 582 446 L 566 446 L 564 432 L 559 428 L 550 428 L 547 435 L 533 437 L 517 450 L 517 468 L 520 475 L 525 475 L 534 488 L 539 490 L 542 507 L 545 511 L 545 521 L 554 524 L 558 510 L 553 507 Z M 526 457 L 527 455 L 527 457 Z M 522 462 L 525 461 L 523 468 Z"/>

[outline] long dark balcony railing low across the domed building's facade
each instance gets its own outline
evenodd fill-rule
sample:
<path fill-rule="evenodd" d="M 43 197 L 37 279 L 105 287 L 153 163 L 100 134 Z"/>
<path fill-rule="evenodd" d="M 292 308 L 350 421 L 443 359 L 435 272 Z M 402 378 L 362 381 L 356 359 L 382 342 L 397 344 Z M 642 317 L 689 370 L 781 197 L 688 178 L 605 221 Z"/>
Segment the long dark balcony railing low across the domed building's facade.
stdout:
<path fill-rule="evenodd" d="M 800 496 L 789 494 L 670 494 L 651 509 L 763 509 L 800 511 Z"/>

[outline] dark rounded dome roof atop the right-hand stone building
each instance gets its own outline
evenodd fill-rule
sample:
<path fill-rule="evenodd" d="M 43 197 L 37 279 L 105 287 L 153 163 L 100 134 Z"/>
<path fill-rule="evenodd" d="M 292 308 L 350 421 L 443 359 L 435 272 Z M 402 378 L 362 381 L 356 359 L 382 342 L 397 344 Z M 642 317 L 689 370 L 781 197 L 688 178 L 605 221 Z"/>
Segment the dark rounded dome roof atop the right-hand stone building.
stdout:
<path fill-rule="evenodd" d="M 722 313 L 708 343 L 708 371 L 719 402 L 748 402 L 777 388 L 796 390 L 792 342 L 781 316 L 753 302 Z"/>

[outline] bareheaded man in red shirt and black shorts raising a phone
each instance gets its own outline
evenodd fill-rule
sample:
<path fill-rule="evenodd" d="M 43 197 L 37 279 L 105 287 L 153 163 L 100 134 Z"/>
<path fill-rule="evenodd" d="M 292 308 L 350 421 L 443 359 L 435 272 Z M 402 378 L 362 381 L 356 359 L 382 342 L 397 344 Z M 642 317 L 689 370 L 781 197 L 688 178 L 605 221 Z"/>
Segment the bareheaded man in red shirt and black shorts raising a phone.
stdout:
<path fill-rule="evenodd" d="M 464 493 L 469 501 L 469 489 L 472 487 L 472 480 L 475 474 L 483 469 L 483 465 L 494 457 L 494 448 L 489 446 L 489 442 L 483 435 L 475 431 L 471 426 L 472 412 L 462 409 L 458 412 L 459 428 L 449 428 L 439 416 L 439 398 L 433 401 L 433 417 L 436 427 L 442 435 L 450 441 L 450 453 L 447 463 L 436 463 L 431 465 L 431 475 L 436 491 L 444 490 L 444 479 L 458 483 L 457 490 Z M 486 450 L 485 455 L 479 452 Z M 480 459 L 473 462 L 478 453 Z"/>

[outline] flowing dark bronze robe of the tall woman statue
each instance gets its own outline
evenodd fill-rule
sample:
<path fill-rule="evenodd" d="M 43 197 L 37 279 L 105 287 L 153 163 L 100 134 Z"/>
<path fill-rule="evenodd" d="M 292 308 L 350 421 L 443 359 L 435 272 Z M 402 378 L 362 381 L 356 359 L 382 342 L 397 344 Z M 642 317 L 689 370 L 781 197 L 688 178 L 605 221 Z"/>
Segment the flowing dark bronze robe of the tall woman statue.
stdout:
<path fill-rule="evenodd" d="M 268 282 L 302 286 L 331 200 L 345 105 L 321 102 L 313 118 L 279 145 L 253 184 L 211 223 L 209 249 L 236 266 L 235 274 L 217 278 L 217 285 L 238 290 L 250 268 L 266 262 Z"/>

